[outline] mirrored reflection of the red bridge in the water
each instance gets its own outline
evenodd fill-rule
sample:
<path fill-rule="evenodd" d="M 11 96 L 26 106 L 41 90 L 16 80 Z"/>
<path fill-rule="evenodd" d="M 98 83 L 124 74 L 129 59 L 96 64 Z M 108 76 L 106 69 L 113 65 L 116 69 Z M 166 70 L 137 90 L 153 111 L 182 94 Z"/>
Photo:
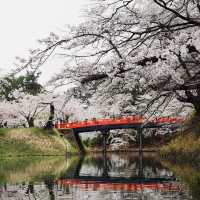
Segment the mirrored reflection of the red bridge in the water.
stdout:
<path fill-rule="evenodd" d="M 113 155 L 112 155 L 113 156 Z M 125 162 L 122 158 L 113 162 L 112 156 L 96 158 L 81 157 L 63 177 L 56 181 L 61 187 L 75 187 L 89 191 L 125 191 L 142 192 L 144 190 L 161 193 L 179 193 L 181 188 L 175 183 L 172 173 L 163 169 L 159 161 L 155 161 L 148 155 L 145 159 L 143 153 L 139 157 L 127 157 Z M 126 157 L 126 155 L 124 155 Z M 114 155 L 115 157 L 115 155 Z M 120 164 L 120 161 L 123 164 Z M 87 173 L 89 166 L 96 165 L 96 172 Z M 86 163 L 87 167 L 84 167 Z M 113 164 L 113 165 L 112 165 Z M 82 169 L 83 166 L 83 169 Z M 86 170 L 86 171 L 85 171 Z"/>

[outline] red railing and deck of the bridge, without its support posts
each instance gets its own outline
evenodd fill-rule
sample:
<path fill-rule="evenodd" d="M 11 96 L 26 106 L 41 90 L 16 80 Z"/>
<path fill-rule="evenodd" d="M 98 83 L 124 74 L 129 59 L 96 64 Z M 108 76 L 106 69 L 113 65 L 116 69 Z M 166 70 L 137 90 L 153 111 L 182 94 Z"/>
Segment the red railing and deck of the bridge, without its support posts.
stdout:
<path fill-rule="evenodd" d="M 57 129 L 73 129 L 76 132 L 90 132 L 126 128 L 157 128 L 165 125 L 180 125 L 184 121 L 181 117 L 157 117 L 147 120 L 141 116 L 128 116 L 113 119 L 93 119 L 72 123 L 56 123 Z"/>

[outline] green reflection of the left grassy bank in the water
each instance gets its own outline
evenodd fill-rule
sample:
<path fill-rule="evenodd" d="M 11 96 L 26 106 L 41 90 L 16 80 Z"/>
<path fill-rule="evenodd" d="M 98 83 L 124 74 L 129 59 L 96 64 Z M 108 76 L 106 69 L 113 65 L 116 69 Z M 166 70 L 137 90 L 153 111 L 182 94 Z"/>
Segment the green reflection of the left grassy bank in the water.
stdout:
<path fill-rule="evenodd" d="M 0 160 L 0 185 L 4 183 L 33 182 L 67 169 L 65 157 L 18 157 Z"/>

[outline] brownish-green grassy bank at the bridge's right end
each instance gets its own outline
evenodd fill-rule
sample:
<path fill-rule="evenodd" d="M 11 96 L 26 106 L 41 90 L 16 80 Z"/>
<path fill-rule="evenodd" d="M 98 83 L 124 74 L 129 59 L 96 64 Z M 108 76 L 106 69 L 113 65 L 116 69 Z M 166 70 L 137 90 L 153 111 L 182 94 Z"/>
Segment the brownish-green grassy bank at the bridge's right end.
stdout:
<path fill-rule="evenodd" d="M 161 155 L 170 160 L 190 162 L 200 160 L 200 116 L 194 114 L 183 125 L 182 131 L 161 148 Z"/>

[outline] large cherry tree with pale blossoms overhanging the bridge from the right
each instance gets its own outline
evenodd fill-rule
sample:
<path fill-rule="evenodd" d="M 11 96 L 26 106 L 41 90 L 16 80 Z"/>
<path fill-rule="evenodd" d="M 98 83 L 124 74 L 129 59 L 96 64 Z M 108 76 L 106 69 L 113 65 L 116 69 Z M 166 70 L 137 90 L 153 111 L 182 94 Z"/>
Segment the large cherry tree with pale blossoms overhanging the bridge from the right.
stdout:
<path fill-rule="evenodd" d="M 96 0 L 86 22 L 40 40 L 41 49 L 18 70 L 40 67 L 57 49 L 74 62 L 53 78 L 56 86 L 74 82 L 85 98 L 130 102 L 132 113 L 150 106 L 162 110 L 176 100 L 200 113 L 199 5 L 199 0 Z M 127 98 L 120 103 L 123 94 Z"/>

